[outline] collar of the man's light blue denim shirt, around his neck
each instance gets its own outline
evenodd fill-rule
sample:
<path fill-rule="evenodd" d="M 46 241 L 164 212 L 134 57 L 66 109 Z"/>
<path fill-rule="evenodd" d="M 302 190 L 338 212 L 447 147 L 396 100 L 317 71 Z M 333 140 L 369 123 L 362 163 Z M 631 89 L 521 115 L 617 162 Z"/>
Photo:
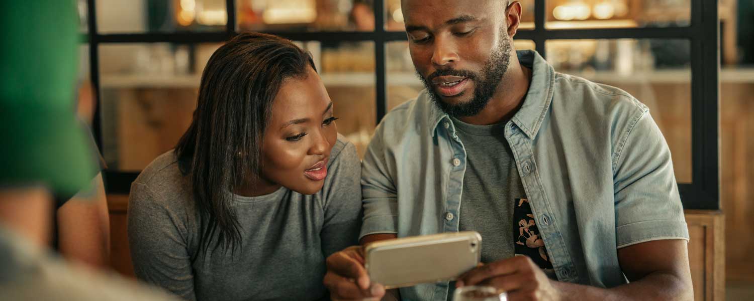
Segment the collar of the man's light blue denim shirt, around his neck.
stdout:
<path fill-rule="evenodd" d="M 530 139 L 535 138 L 542 124 L 550 102 L 553 99 L 553 83 L 555 70 L 534 50 L 516 51 L 521 65 L 532 68 L 532 82 L 529 92 L 526 93 L 523 105 L 510 120 L 516 124 Z M 443 112 L 437 105 L 432 104 L 430 114 L 430 126 L 432 135 L 437 135 L 437 126 L 442 120 L 450 120 L 448 114 Z"/>

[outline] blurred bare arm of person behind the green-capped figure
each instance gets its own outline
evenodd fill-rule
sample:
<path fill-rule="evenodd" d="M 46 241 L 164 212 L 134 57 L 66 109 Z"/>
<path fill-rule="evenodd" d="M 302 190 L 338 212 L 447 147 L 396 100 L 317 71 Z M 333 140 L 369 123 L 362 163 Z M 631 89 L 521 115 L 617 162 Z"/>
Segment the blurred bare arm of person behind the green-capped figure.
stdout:
<path fill-rule="evenodd" d="M 110 263 L 110 217 L 102 173 L 57 210 L 60 254 L 68 260 L 105 268 Z"/>

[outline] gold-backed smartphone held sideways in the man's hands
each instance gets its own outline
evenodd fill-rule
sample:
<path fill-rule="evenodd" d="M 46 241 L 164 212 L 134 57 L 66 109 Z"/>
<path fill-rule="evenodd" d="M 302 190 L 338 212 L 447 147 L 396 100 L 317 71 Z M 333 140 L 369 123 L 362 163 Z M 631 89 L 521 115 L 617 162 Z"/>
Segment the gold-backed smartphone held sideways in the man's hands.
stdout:
<path fill-rule="evenodd" d="M 372 242 L 364 256 L 369 278 L 386 289 L 453 281 L 479 265 L 482 236 L 466 231 Z"/>

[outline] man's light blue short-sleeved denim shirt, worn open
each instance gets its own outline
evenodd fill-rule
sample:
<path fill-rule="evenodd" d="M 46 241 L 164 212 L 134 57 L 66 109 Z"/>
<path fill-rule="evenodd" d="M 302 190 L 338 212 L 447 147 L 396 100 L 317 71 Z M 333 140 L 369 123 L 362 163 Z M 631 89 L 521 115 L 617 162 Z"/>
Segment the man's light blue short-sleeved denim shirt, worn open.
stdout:
<path fill-rule="evenodd" d="M 667 143 L 648 108 L 623 90 L 557 73 L 531 50 L 518 57 L 532 83 L 504 135 L 556 276 L 624 284 L 619 248 L 688 240 Z M 457 232 L 465 170 L 464 145 L 426 91 L 395 108 L 363 159 L 361 236 Z M 400 293 L 444 301 L 448 283 Z"/>

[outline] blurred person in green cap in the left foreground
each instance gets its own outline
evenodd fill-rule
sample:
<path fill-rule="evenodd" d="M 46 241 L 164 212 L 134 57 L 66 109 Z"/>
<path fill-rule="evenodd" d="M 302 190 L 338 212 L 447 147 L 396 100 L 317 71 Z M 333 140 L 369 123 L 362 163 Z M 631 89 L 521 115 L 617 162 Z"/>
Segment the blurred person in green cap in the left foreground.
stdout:
<path fill-rule="evenodd" d="M 73 1 L 0 4 L 0 299 L 174 299 L 49 248 L 54 195 L 91 191 L 97 178 L 72 110 L 75 16 Z"/>

